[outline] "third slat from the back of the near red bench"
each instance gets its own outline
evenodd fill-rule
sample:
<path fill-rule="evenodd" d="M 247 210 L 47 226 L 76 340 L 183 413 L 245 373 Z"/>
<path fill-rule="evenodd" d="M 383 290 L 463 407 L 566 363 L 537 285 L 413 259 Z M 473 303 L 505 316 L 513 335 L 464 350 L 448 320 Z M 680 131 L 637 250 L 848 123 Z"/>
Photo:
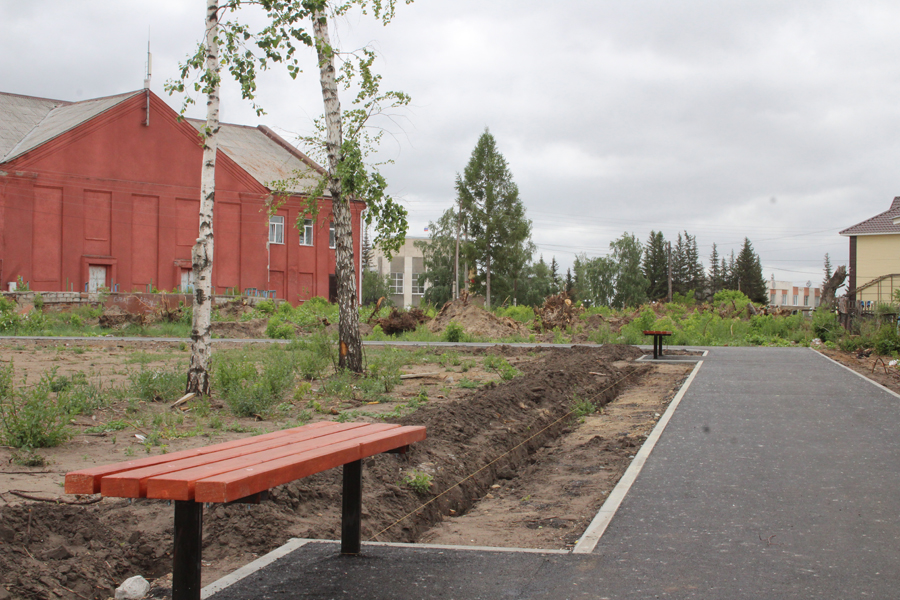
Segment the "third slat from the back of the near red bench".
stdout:
<path fill-rule="evenodd" d="M 348 431 L 335 432 L 331 435 L 323 436 L 290 444 L 281 448 L 271 450 L 263 450 L 247 456 L 239 456 L 236 458 L 205 464 L 190 469 L 174 471 L 163 475 L 150 477 L 143 484 L 146 489 L 147 498 L 160 498 L 163 500 L 192 500 L 194 498 L 194 485 L 201 479 L 213 477 L 222 473 L 229 473 L 240 469 L 254 469 L 263 465 L 263 463 L 275 461 L 278 459 L 298 460 L 299 455 L 310 450 L 324 448 L 326 451 L 333 449 L 332 447 L 342 442 L 352 442 L 358 444 L 357 441 L 363 436 L 370 433 L 380 433 L 385 430 L 398 429 L 399 425 L 390 423 L 366 424 L 362 427 L 351 429 Z M 336 449 L 334 449 L 336 451 Z M 356 459 L 352 459 L 356 460 Z M 344 463 L 338 463 L 344 464 Z M 126 474 L 123 474 L 127 476 Z M 269 488 L 263 488 L 269 489 Z M 262 491 L 262 490 L 259 490 Z M 106 495 L 106 480 L 103 483 L 103 493 Z M 254 492 L 255 493 L 255 492 Z M 243 498 L 243 496 L 241 496 Z M 237 498 L 233 498 L 236 500 Z M 204 502 L 198 500 L 198 502 Z"/>

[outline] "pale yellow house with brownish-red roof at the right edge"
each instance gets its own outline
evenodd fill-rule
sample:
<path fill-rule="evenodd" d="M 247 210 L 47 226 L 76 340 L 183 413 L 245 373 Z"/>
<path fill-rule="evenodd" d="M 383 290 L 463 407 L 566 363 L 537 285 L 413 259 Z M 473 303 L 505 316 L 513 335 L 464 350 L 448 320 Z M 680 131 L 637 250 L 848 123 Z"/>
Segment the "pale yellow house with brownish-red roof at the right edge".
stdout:
<path fill-rule="evenodd" d="M 890 303 L 900 288 L 900 197 L 841 235 L 850 238 L 850 300 L 863 308 Z"/>

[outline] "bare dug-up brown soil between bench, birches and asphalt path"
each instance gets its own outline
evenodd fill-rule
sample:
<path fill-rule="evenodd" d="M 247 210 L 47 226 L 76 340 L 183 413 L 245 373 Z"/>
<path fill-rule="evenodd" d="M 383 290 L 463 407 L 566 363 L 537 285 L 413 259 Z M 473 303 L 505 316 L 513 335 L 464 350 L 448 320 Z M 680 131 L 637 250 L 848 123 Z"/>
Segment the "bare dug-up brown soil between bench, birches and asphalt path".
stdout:
<path fill-rule="evenodd" d="M 218 346 L 217 346 L 218 347 Z M 381 455 L 364 465 L 363 538 L 466 545 L 565 548 L 574 544 L 627 468 L 692 365 L 635 362 L 630 346 L 527 350 L 498 346 L 459 352 L 474 364 L 462 372 L 450 362 L 404 369 L 426 377 L 404 380 L 398 402 L 427 398 L 398 419 L 425 425 L 428 439 L 405 456 Z M 521 375 L 502 381 L 483 368 L 500 354 Z M 145 366 L 187 360 L 177 342 L 0 342 L 0 361 L 13 360 L 16 377 L 33 382 L 56 367 L 84 372 L 110 385 L 127 381 L 136 357 Z M 465 378 L 478 387 L 460 387 Z M 313 392 L 317 382 L 313 382 Z M 579 419 L 573 401 L 602 412 Z M 383 408 L 382 408 L 383 407 Z M 168 403 L 143 411 L 166 413 Z M 337 407 L 344 410 L 348 407 Z M 367 407 L 360 420 L 377 420 Z M 133 409 L 133 407 L 132 407 Z M 214 405 L 215 409 L 215 405 Z M 222 413 L 225 411 L 222 410 Z M 148 579 L 171 570 L 172 507 L 163 501 L 68 497 L 67 471 L 144 455 L 140 428 L 86 433 L 97 424 L 128 419 L 125 402 L 92 417 L 54 449 L 42 450 L 44 467 L 24 467 L 0 448 L 0 600 L 5 598 L 108 598 L 127 577 Z M 332 419 L 325 411 L 316 419 Z M 284 426 L 225 417 L 225 427 L 166 440 L 168 451 L 218 443 Z M 180 424 L 187 431 L 191 416 Z M 159 452 L 159 448 L 151 449 Z M 405 475 L 426 474 L 430 487 L 415 491 Z M 85 505 L 40 502 L 19 494 Z M 259 505 L 214 505 L 204 515 L 204 585 L 291 537 L 340 535 L 340 470 L 273 490 Z"/>

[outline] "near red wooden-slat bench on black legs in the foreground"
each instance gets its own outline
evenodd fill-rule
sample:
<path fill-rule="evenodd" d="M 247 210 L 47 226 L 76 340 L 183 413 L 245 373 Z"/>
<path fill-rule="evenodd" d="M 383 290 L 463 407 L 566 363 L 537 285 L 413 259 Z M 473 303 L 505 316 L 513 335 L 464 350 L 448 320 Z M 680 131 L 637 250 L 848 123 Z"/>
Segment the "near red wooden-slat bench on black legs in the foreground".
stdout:
<path fill-rule="evenodd" d="M 343 465 L 341 553 L 361 544 L 362 459 L 405 452 L 425 428 L 320 422 L 66 474 L 68 494 L 175 501 L 172 599 L 199 600 L 203 503 L 258 502 L 269 489 Z"/>

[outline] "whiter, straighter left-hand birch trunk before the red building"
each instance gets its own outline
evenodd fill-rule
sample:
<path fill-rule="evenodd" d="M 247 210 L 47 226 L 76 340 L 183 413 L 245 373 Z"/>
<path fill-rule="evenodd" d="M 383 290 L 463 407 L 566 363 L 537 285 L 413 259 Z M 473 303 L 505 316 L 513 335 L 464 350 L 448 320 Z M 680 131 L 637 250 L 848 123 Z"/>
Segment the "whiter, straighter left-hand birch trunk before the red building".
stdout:
<path fill-rule="evenodd" d="M 212 316 L 213 205 L 216 194 L 216 148 L 219 133 L 218 0 L 206 2 L 206 69 L 213 76 L 206 100 L 206 131 L 200 175 L 200 229 L 191 250 L 194 306 L 191 365 L 186 393 L 209 395 L 210 321 Z"/>

